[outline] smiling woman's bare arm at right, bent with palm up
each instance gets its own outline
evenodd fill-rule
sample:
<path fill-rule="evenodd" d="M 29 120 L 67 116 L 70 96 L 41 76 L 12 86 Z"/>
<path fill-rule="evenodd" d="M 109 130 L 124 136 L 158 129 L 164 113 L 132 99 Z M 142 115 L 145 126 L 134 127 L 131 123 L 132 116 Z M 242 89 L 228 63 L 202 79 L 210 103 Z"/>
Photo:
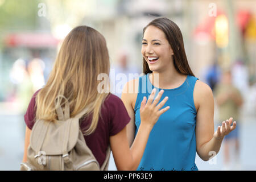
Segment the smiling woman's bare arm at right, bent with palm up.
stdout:
<path fill-rule="evenodd" d="M 201 159 L 207 161 L 212 156 L 212 152 L 218 154 L 222 139 L 236 128 L 236 122 L 230 127 L 232 118 L 229 118 L 214 132 L 213 94 L 210 87 L 204 82 L 196 81 L 194 101 L 199 104 L 196 114 L 196 151 Z"/>

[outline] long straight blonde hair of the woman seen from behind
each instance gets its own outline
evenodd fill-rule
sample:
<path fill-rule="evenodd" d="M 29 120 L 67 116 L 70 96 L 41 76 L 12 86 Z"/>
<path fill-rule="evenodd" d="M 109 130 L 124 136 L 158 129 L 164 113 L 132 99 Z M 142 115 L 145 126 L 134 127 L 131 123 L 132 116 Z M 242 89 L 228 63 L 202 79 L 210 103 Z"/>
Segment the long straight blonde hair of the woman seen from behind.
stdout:
<path fill-rule="evenodd" d="M 104 36 L 88 26 L 74 28 L 64 39 L 46 86 L 36 96 L 36 119 L 56 121 L 55 99 L 65 96 L 70 105 L 70 117 L 91 105 L 84 116 L 92 115 L 92 122 L 84 134 L 92 134 L 97 127 L 101 105 L 109 92 L 97 92 L 100 73 L 109 75 L 109 53 Z M 108 89 L 108 88 L 104 88 Z M 59 98 L 57 105 L 64 106 Z"/>

